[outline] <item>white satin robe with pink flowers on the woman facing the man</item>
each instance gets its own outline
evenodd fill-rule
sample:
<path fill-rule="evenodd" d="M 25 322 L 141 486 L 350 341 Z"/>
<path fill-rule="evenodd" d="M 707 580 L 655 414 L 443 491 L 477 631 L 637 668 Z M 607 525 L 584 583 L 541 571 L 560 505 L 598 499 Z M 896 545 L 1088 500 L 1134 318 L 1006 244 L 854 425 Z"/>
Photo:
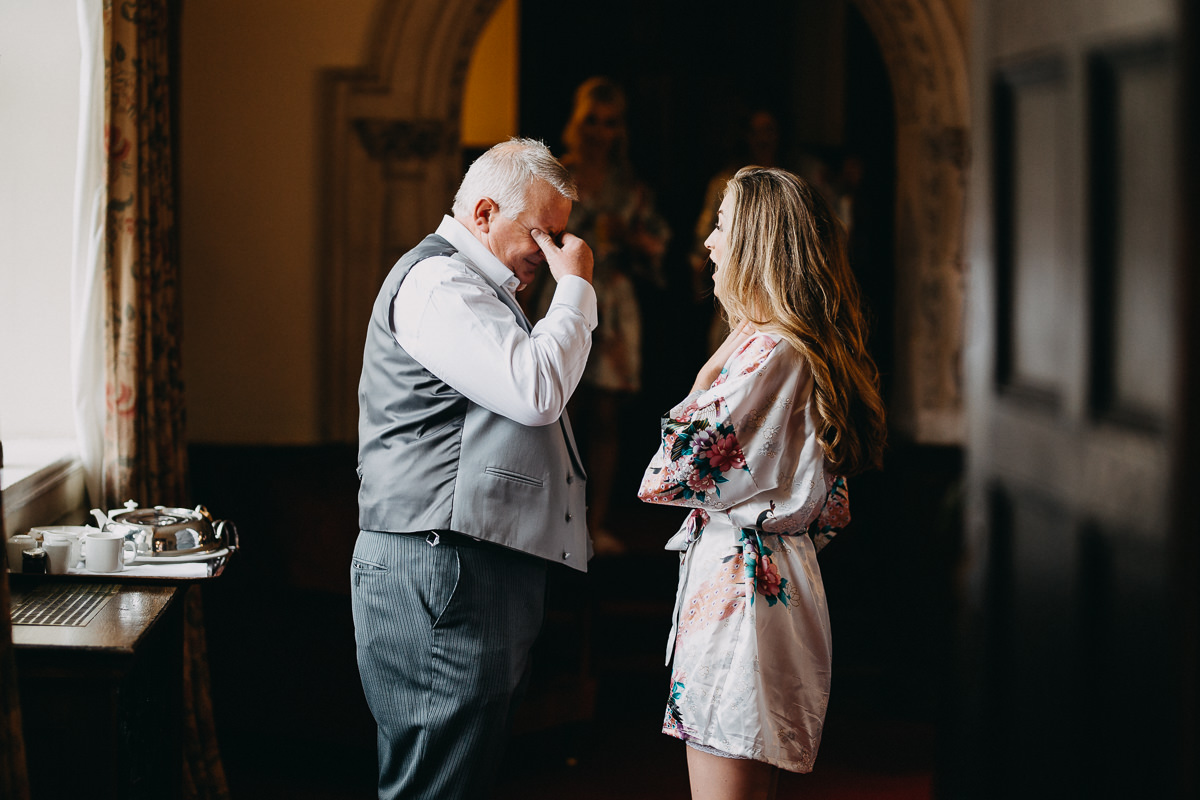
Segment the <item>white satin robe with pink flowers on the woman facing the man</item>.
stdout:
<path fill-rule="evenodd" d="M 812 769 L 829 698 L 816 552 L 850 519 L 811 395 L 804 359 L 756 333 L 671 409 L 638 489 L 692 509 L 667 543 L 680 563 L 664 733 L 796 772 Z"/>

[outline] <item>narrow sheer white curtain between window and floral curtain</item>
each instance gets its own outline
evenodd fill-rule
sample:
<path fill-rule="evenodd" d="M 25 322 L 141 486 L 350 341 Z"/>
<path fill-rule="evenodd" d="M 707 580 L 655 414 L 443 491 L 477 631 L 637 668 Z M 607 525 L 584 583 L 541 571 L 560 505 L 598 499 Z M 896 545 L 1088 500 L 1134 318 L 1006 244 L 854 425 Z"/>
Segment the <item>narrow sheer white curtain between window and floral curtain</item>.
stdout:
<path fill-rule="evenodd" d="M 101 503 L 104 450 L 104 4 L 77 0 L 79 143 L 71 265 L 71 384 L 88 501 Z"/>

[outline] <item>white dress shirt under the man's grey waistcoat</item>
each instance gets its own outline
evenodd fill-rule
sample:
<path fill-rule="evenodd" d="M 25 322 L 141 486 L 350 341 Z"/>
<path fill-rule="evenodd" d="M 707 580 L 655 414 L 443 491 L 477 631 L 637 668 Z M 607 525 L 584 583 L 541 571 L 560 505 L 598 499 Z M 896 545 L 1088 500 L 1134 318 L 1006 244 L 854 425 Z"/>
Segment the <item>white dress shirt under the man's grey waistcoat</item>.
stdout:
<path fill-rule="evenodd" d="M 462 223 L 443 217 L 437 233 L 516 297 L 512 270 Z M 470 267 L 434 257 L 415 264 L 401 283 L 391 326 L 406 353 L 467 399 L 521 425 L 551 425 L 583 374 L 596 295 L 583 278 L 564 276 L 546 317 L 526 333 Z"/>

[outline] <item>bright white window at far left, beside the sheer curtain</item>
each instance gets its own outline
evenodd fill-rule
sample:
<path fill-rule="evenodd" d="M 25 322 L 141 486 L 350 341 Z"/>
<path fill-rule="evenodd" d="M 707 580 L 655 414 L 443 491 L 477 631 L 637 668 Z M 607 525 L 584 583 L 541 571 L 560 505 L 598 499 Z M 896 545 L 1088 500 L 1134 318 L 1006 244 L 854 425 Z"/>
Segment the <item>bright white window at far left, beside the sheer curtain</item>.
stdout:
<path fill-rule="evenodd" d="M 74 449 L 70 272 L 79 115 L 76 13 L 73 2 L 0 4 L 0 441 L 6 486 Z"/>

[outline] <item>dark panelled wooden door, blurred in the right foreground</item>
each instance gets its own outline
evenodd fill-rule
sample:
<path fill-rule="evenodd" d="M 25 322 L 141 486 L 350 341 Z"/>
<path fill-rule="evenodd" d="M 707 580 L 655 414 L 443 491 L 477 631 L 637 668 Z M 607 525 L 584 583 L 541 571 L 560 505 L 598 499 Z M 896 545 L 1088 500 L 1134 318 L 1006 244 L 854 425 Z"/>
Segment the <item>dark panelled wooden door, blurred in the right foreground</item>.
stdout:
<path fill-rule="evenodd" d="M 973 6 L 966 602 L 944 796 L 1195 790 L 1195 531 L 1172 491 L 1195 438 L 1183 22 L 1182 0 Z"/>

